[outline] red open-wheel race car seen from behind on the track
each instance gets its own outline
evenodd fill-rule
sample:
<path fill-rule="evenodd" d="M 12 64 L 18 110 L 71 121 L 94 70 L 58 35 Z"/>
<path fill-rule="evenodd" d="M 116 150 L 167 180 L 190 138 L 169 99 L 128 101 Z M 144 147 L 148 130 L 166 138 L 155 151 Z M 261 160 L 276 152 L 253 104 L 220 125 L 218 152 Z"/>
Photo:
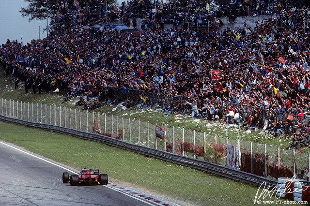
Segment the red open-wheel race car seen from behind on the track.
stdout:
<path fill-rule="evenodd" d="M 108 175 L 99 174 L 99 169 L 81 169 L 78 175 L 71 175 L 69 178 L 69 173 L 62 173 L 62 182 L 68 183 L 70 181 L 71 186 L 78 186 L 79 183 L 88 183 L 91 185 L 107 185 Z"/>

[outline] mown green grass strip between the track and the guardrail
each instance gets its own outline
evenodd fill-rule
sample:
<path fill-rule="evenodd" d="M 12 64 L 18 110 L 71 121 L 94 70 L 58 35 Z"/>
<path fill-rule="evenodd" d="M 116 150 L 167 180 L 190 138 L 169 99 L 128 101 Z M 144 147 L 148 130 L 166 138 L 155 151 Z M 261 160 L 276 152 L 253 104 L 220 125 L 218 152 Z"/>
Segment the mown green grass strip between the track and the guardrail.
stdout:
<path fill-rule="evenodd" d="M 0 139 L 76 169 L 100 168 L 111 182 L 130 182 L 138 190 L 141 187 L 183 205 L 253 205 L 258 190 L 253 185 L 101 143 L 1 121 Z"/>

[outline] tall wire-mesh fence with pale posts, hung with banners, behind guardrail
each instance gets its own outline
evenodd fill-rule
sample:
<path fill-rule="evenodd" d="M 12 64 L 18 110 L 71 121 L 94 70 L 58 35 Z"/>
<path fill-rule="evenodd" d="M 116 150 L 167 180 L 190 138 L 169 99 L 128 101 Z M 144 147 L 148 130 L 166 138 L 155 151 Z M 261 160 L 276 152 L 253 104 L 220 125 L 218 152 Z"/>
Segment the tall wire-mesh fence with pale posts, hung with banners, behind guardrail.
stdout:
<path fill-rule="evenodd" d="M 309 167 L 309 154 L 267 144 L 169 128 L 130 118 L 38 103 L 0 100 L 2 116 L 106 135 L 128 143 L 216 163 L 270 179 Z M 278 161 L 280 160 L 280 161 Z M 283 164 L 281 163 L 283 162 Z"/>

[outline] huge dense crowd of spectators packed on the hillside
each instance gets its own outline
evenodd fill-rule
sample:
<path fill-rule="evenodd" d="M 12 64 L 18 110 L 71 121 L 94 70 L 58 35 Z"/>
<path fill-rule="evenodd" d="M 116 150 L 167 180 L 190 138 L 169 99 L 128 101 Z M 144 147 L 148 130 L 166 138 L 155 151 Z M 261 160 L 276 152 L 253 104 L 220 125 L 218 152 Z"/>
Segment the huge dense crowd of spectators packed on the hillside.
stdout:
<path fill-rule="evenodd" d="M 275 137 L 301 136 L 310 128 L 308 17 L 308 8 L 298 7 L 257 28 L 208 33 L 150 27 L 137 36 L 104 27 L 65 27 L 66 18 L 55 16 L 47 38 L 27 45 L 8 40 L 0 47 L 0 60 L 6 74 L 16 76 L 16 88 L 19 82 L 26 93 L 59 88 L 66 93 L 64 102 L 79 97 L 77 106 L 84 109 L 95 109 L 100 101 L 140 102 L 190 111 L 192 118 L 227 118 L 229 124 Z M 217 80 L 214 70 L 220 71 Z M 242 118 L 227 116 L 231 111 Z M 296 141 L 291 147 L 307 146 L 310 139 Z"/>

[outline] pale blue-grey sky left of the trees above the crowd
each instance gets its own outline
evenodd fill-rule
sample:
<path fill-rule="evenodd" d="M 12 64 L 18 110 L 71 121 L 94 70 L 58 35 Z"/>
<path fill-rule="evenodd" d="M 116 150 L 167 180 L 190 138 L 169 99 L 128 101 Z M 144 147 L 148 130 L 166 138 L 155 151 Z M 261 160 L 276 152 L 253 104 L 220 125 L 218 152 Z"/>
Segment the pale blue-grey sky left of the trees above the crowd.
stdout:
<path fill-rule="evenodd" d="M 40 39 L 47 36 L 43 28 L 47 27 L 47 20 L 28 21 L 29 17 L 23 18 L 19 12 L 21 7 L 29 2 L 24 0 L 0 0 L 0 45 L 10 41 L 23 39 L 23 43 L 30 43 L 32 39 Z M 43 33 L 42 33 L 43 32 Z"/>

